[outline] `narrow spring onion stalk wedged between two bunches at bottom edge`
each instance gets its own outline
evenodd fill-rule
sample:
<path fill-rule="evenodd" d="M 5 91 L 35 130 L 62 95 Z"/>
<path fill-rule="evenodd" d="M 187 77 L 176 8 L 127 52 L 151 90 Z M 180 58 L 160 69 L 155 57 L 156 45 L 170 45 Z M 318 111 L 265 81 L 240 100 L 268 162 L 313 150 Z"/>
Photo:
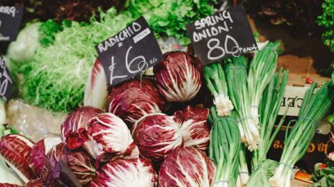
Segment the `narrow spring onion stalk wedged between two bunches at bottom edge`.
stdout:
<path fill-rule="evenodd" d="M 237 187 L 246 186 L 249 179 L 249 172 L 246 159 L 246 147 L 242 145 L 239 151 L 239 172 L 237 178 Z"/>

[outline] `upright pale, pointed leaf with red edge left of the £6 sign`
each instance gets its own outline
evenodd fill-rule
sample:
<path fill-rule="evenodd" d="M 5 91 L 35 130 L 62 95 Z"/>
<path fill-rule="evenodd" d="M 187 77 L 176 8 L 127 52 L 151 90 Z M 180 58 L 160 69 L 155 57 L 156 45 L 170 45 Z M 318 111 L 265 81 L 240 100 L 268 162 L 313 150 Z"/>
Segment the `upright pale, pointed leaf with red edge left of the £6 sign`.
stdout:
<path fill-rule="evenodd" d="M 106 74 L 104 73 L 100 58 L 97 58 L 86 83 L 84 106 L 94 106 L 103 109 L 106 104 L 106 96 L 108 95 L 107 89 Z"/>

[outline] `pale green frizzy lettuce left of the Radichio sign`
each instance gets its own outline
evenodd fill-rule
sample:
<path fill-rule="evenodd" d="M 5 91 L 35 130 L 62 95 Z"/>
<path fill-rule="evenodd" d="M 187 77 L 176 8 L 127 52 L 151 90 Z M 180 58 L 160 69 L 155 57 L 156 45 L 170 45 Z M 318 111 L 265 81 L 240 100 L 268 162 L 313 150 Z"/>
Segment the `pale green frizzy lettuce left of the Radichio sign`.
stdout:
<path fill-rule="evenodd" d="M 116 15 L 111 8 L 89 24 L 71 22 L 54 34 L 53 44 L 39 47 L 33 60 L 19 68 L 23 75 L 20 93 L 30 104 L 51 111 L 70 112 L 84 98 L 89 72 L 97 58 L 95 45 L 132 22 L 128 13 Z"/>

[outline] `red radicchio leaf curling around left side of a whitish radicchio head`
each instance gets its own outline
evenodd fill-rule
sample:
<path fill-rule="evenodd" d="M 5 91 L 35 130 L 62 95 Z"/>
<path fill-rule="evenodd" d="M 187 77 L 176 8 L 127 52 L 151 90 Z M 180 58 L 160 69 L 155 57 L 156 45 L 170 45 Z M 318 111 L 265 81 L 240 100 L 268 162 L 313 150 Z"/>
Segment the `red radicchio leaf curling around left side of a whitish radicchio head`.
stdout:
<path fill-rule="evenodd" d="M 90 118 L 99 113 L 103 113 L 103 111 L 92 106 L 84 106 L 66 117 L 61 124 L 61 138 L 63 142 L 67 143 L 69 149 L 77 149 L 84 144 L 86 138 L 81 136 L 80 131 L 86 129 Z"/>

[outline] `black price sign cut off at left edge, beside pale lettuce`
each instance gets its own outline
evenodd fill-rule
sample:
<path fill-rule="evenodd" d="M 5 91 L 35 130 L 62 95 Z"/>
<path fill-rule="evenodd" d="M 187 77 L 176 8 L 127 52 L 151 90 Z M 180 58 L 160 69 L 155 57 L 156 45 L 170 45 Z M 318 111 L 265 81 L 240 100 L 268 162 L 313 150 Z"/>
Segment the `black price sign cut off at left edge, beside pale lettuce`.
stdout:
<path fill-rule="evenodd" d="M 4 101 L 9 100 L 10 90 L 12 90 L 13 81 L 6 66 L 5 60 L 0 56 L 0 96 Z"/>

